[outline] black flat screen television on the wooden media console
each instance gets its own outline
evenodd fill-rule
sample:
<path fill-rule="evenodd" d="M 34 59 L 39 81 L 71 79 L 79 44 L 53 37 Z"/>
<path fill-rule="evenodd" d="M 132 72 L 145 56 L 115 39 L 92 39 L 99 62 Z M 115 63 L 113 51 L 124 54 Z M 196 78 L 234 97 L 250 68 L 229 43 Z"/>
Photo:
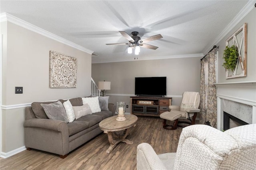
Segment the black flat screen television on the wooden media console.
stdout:
<path fill-rule="evenodd" d="M 165 96 L 166 77 L 135 77 L 135 95 Z"/>

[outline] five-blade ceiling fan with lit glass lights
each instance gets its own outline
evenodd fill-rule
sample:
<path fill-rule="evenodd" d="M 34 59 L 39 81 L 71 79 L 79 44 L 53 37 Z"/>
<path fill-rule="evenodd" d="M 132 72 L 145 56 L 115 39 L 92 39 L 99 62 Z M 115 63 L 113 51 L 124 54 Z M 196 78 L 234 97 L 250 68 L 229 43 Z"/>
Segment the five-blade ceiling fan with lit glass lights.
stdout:
<path fill-rule="evenodd" d="M 132 47 L 135 48 L 135 54 L 138 55 L 138 53 L 140 52 L 140 47 L 144 47 L 144 48 L 148 48 L 148 49 L 157 49 L 158 47 L 154 46 L 154 45 L 150 45 L 150 44 L 146 44 L 145 42 L 150 42 L 153 40 L 158 40 L 160 38 L 163 38 L 161 36 L 161 34 L 157 34 L 154 36 L 150 36 L 150 37 L 146 37 L 141 39 L 138 34 L 139 32 L 132 32 L 132 36 L 129 36 L 129 34 L 127 34 L 125 31 L 119 31 L 120 34 L 122 34 L 122 36 L 124 36 L 124 38 L 126 38 L 129 43 L 106 43 L 106 45 L 129 45 L 128 47 L 128 53 L 132 53 Z"/>

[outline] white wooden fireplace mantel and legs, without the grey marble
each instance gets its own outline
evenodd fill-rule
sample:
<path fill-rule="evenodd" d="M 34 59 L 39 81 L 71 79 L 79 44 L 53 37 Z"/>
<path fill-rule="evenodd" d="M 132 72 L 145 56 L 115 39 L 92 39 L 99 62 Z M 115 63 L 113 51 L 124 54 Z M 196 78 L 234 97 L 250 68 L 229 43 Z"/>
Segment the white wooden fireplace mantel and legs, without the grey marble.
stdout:
<path fill-rule="evenodd" d="M 223 121 L 221 110 L 222 99 L 252 106 L 252 123 L 256 123 L 256 81 L 233 83 L 215 83 L 217 87 L 217 128 L 220 130 Z"/>

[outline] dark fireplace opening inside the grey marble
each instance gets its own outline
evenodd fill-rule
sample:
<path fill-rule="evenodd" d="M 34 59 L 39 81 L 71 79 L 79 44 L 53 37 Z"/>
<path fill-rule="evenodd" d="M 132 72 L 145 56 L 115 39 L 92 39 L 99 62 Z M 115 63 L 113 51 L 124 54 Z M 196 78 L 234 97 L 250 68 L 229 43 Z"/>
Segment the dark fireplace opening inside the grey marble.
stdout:
<path fill-rule="evenodd" d="M 228 130 L 230 128 L 238 127 L 242 125 L 248 125 L 248 123 L 226 112 L 223 112 L 223 130 Z"/>

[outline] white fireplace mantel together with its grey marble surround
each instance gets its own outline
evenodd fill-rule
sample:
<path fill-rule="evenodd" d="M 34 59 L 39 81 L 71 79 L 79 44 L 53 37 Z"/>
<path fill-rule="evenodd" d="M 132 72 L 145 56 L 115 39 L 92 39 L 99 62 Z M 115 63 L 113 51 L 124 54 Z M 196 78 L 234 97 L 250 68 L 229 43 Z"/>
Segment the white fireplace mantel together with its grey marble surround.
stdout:
<path fill-rule="evenodd" d="M 217 87 L 217 129 L 223 129 L 223 111 L 256 123 L 256 81 L 215 83 Z"/>

